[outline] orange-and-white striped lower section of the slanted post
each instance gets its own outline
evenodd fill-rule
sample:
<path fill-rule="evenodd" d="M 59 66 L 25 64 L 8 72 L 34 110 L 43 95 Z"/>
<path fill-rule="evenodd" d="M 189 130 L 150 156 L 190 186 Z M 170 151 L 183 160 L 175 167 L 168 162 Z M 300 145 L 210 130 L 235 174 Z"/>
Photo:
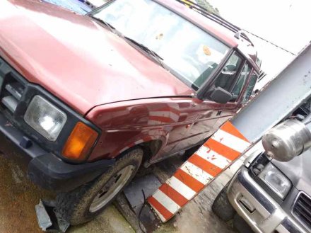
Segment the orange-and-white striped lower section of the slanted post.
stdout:
<path fill-rule="evenodd" d="M 148 203 L 162 222 L 170 220 L 249 146 L 228 121 L 148 198 Z"/>

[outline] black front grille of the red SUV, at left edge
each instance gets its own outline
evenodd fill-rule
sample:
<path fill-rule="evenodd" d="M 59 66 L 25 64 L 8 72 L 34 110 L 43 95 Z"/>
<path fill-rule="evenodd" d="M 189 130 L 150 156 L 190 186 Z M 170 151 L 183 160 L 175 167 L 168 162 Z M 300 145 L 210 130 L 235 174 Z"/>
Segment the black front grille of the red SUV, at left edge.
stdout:
<path fill-rule="evenodd" d="M 25 86 L 19 81 L 16 71 L 0 59 L 0 104 L 9 113 L 15 113 Z"/>

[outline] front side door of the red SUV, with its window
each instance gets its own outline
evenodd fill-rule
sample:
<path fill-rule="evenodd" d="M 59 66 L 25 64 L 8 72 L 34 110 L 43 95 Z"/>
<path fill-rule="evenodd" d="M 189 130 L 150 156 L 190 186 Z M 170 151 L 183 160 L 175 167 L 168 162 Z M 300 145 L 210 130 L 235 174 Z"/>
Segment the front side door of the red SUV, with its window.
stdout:
<path fill-rule="evenodd" d="M 235 85 L 244 63 L 245 59 L 237 52 L 234 52 L 225 63 L 221 72 L 216 76 L 212 85 L 216 87 L 220 86 L 230 91 Z M 236 101 L 223 104 L 209 99 L 199 100 L 194 98 L 192 114 L 196 115 L 196 120 L 189 125 L 189 130 L 185 133 L 182 140 L 172 149 L 171 153 L 193 147 L 213 135 L 213 132 L 218 129 L 219 124 L 230 117 L 230 115 L 236 113 L 239 107 L 240 105 Z M 220 118 L 223 120 L 219 120 Z"/>

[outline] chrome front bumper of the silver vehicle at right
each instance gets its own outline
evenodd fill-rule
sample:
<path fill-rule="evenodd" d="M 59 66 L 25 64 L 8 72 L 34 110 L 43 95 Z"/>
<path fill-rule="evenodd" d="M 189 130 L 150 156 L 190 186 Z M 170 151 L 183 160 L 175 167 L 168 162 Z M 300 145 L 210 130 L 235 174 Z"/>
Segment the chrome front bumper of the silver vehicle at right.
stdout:
<path fill-rule="evenodd" d="M 227 195 L 238 215 L 254 232 L 306 232 L 250 177 L 244 166 L 233 177 Z"/>

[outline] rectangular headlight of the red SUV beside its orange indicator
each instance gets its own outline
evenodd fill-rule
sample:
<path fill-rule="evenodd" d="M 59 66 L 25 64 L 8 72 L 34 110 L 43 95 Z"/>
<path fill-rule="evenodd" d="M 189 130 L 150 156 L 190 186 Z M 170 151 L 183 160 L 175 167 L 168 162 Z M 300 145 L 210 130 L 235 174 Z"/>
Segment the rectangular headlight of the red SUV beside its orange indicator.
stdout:
<path fill-rule="evenodd" d="M 63 129 L 67 116 L 41 96 L 35 96 L 26 110 L 24 120 L 40 135 L 54 142 Z"/>

